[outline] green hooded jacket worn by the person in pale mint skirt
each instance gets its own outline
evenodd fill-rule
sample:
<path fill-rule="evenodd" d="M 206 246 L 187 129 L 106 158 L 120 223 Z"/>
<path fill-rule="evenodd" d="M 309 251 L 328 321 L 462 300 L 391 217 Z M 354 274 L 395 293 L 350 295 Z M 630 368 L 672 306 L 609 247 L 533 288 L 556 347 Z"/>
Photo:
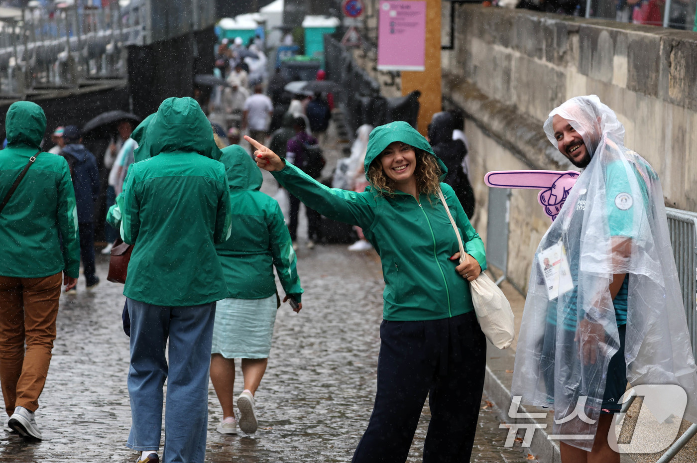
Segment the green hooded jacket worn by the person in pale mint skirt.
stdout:
<path fill-rule="evenodd" d="M 296 252 L 281 208 L 275 199 L 259 191 L 261 172 L 241 146 L 222 149 L 233 204 L 235 234 L 215 246 L 227 282 L 227 297 L 260 299 L 273 296 L 276 266 L 286 294 L 300 302 L 300 278 Z"/>

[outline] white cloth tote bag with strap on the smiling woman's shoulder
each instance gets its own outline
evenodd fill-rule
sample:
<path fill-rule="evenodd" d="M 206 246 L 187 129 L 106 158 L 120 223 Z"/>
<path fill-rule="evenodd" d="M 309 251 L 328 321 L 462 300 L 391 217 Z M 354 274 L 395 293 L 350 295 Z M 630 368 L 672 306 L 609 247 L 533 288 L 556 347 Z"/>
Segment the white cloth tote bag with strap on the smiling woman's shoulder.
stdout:
<path fill-rule="evenodd" d="M 452 228 L 455 231 L 455 236 L 457 236 L 457 244 L 460 248 L 460 263 L 462 263 L 466 254 L 465 247 L 462 244 L 457 225 L 455 225 L 440 188 L 438 188 L 438 197 L 441 198 L 441 202 L 445 206 L 445 212 L 447 212 Z M 475 306 L 477 321 L 479 321 L 480 328 L 482 328 L 489 342 L 498 347 L 498 349 L 509 347 L 515 337 L 514 316 L 511 304 L 503 294 L 503 291 L 491 281 L 491 278 L 486 273 L 482 272 L 475 280 L 470 281 L 470 293 L 472 294 L 472 303 Z"/>

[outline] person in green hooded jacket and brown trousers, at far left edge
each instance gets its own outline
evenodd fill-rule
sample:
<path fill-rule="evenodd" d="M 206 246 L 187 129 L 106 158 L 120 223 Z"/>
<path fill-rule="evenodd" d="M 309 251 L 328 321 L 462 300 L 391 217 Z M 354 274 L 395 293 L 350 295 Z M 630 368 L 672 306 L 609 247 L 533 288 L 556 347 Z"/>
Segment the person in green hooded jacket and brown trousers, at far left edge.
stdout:
<path fill-rule="evenodd" d="M 30 158 L 35 161 L 0 211 L 0 383 L 8 425 L 25 439 L 41 440 L 34 412 L 56 339 L 61 282 L 66 291 L 74 288 L 80 268 L 77 209 L 68 162 L 40 149 L 43 109 L 13 103 L 5 129 L 0 202 Z"/>

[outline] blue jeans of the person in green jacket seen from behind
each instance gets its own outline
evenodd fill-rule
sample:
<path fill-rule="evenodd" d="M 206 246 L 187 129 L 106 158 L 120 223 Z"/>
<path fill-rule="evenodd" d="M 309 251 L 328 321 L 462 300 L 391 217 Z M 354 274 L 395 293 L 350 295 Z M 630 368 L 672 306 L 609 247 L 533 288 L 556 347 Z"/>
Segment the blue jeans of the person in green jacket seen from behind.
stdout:
<path fill-rule="evenodd" d="M 131 319 L 132 425 L 126 446 L 160 448 L 162 386 L 167 381 L 163 463 L 203 463 L 208 427 L 208 374 L 215 302 L 162 307 L 127 299 Z M 169 338 L 169 367 L 164 348 Z"/>

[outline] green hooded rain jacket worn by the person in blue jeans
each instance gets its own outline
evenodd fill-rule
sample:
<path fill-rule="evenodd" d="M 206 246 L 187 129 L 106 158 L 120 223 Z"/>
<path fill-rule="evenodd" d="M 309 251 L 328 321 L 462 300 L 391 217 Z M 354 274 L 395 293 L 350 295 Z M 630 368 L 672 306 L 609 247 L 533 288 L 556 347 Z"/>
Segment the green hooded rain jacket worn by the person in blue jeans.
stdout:
<path fill-rule="evenodd" d="M 215 243 L 230 237 L 225 168 L 192 98 L 167 98 L 146 131 L 151 157 L 129 167 L 121 237 L 133 244 L 123 294 L 163 306 L 227 297 Z M 217 153 L 220 150 L 215 147 Z"/>

